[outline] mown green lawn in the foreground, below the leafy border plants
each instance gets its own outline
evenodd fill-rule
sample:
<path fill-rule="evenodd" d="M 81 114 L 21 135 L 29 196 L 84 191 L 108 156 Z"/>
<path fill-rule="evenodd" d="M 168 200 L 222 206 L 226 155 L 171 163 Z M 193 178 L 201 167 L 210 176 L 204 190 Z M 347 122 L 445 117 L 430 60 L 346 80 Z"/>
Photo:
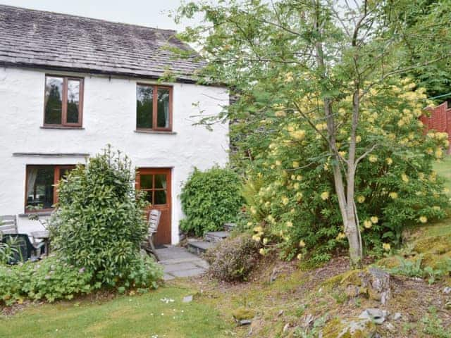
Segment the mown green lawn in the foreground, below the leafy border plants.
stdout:
<path fill-rule="evenodd" d="M 226 337 L 230 323 L 217 311 L 194 301 L 185 287 L 161 287 L 140 296 L 120 296 L 103 303 L 81 301 L 30 306 L 0 318 L 0 337 Z M 161 299 L 174 299 L 165 303 Z"/>

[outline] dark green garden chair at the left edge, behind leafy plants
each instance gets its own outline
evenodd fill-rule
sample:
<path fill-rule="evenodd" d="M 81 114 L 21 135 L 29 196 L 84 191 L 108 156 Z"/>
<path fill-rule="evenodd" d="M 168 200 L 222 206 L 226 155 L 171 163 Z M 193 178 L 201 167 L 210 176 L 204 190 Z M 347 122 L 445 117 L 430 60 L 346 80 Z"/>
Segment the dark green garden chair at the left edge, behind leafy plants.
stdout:
<path fill-rule="evenodd" d="M 27 234 L 3 234 L 1 242 L 11 246 L 11 257 L 8 264 L 17 264 L 25 261 L 37 261 L 44 253 L 44 243 L 33 245 Z"/>

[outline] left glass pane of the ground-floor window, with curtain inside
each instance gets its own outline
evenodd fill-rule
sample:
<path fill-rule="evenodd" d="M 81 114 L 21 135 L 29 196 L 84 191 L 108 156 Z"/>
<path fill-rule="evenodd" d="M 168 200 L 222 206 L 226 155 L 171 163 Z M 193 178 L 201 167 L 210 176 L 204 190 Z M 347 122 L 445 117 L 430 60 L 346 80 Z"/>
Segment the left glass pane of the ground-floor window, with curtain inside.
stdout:
<path fill-rule="evenodd" d="M 51 208 L 54 204 L 53 166 L 27 168 L 27 205 Z"/>

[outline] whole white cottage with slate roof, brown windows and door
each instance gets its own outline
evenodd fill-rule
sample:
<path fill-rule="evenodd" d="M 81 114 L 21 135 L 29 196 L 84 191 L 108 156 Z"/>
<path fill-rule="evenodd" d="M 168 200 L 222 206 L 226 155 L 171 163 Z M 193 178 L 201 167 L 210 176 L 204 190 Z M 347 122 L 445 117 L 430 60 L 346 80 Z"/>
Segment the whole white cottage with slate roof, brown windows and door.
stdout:
<path fill-rule="evenodd" d="M 228 93 L 194 83 L 204 63 L 174 34 L 0 5 L 0 215 L 18 215 L 19 232 L 41 227 L 27 206 L 49 215 L 60 177 L 111 144 L 162 211 L 157 242 L 178 243 L 182 182 L 228 161 L 228 125 L 210 132 L 193 115 L 218 114 Z M 157 82 L 167 69 L 177 80 Z"/>

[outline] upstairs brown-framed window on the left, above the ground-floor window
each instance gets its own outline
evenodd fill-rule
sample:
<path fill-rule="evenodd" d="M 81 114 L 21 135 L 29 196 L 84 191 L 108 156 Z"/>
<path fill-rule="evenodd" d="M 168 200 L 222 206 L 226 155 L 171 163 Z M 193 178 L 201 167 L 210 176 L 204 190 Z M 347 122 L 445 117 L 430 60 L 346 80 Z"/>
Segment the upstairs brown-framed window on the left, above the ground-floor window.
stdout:
<path fill-rule="evenodd" d="M 44 126 L 82 126 L 83 79 L 45 77 Z"/>

